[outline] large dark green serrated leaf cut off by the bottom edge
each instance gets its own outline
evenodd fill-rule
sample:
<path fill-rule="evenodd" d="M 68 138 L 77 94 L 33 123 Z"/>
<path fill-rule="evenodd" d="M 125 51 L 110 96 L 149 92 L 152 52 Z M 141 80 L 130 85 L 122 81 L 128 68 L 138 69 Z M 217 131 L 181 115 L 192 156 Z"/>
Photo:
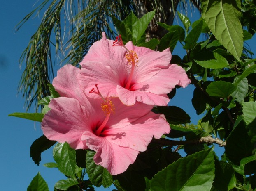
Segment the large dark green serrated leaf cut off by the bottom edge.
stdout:
<path fill-rule="evenodd" d="M 151 191 L 210 190 L 214 180 L 212 149 L 178 159 L 151 180 Z"/>

